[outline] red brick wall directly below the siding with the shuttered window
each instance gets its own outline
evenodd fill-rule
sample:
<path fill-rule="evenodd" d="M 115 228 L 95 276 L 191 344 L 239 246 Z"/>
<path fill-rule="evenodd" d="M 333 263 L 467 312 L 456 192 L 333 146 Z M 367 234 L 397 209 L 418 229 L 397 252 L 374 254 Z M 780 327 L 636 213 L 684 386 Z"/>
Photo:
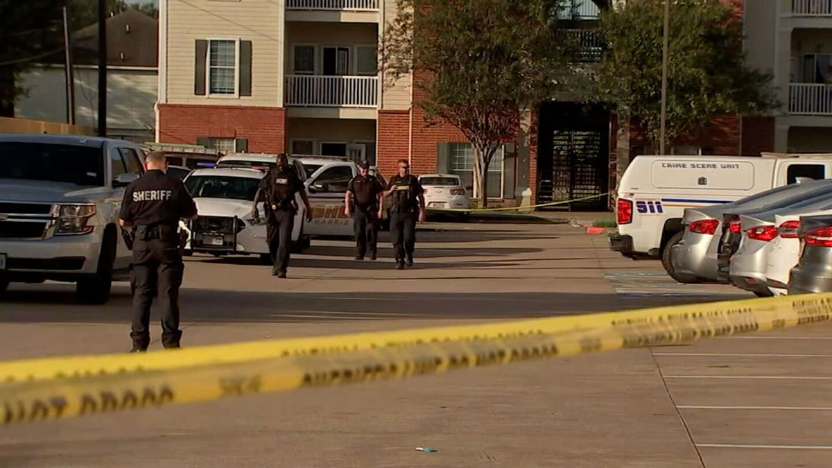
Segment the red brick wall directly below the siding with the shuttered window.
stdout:
<path fill-rule="evenodd" d="M 199 137 L 247 138 L 249 152 L 284 152 L 282 107 L 159 105 L 159 138 L 195 144 Z"/>

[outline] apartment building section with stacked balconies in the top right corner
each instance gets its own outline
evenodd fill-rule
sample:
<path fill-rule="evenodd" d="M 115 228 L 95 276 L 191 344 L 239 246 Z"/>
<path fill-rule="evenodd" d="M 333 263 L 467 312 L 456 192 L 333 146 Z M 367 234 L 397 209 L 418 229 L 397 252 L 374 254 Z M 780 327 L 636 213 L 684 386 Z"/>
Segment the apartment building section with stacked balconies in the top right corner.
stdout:
<path fill-rule="evenodd" d="M 774 76 L 779 152 L 832 151 L 832 2 L 746 0 L 750 65 Z"/>

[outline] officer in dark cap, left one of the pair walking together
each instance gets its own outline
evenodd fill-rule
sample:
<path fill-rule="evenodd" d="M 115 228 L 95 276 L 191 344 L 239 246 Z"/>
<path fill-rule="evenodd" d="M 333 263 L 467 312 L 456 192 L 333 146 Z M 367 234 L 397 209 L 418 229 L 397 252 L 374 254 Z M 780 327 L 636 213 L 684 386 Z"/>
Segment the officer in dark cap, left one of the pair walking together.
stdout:
<path fill-rule="evenodd" d="M 367 251 L 370 260 L 376 259 L 379 219 L 384 204 L 382 192 L 384 186 L 379 183 L 379 179 L 369 175 L 369 162 L 359 162 L 359 175 L 349 181 L 344 196 L 344 214 L 349 217 L 354 212 L 355 260 L 364 260 Z"/>

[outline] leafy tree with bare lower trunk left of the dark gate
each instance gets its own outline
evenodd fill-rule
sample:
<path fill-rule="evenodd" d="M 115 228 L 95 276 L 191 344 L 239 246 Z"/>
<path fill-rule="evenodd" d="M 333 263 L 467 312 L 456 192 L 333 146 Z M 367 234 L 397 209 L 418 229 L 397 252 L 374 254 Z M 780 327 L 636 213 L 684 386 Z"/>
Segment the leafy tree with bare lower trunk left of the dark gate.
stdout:
<path fill-rule="evenodd" d="M 457 127 L 473 147 L 473 180 L 487 204 L 488 165 L 513 141 L 524 112 L 552 97 L 570 47 L 562 0 L 397 0 L 381 67 L 397 80 L 416 71 L 415 105 Z"/>

